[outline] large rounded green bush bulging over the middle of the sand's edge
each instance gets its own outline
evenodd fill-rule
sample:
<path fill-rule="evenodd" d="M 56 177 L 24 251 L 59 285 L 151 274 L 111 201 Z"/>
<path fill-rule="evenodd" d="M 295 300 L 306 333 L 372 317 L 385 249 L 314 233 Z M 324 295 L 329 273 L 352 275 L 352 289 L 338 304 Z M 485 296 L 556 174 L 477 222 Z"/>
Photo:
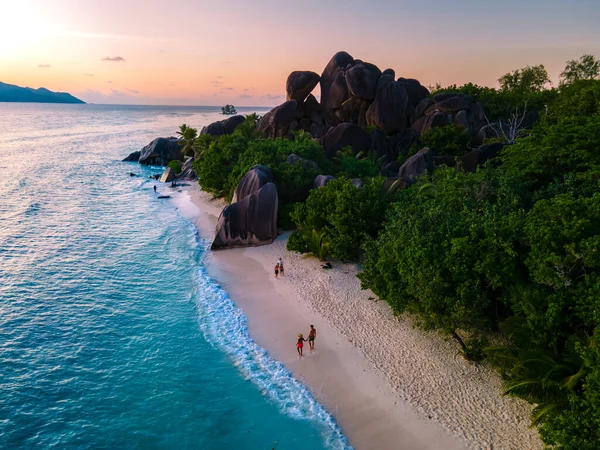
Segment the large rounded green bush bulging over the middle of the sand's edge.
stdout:
<path fill-rule="evenodd" d="M 400 191 L 383 230 L 365 245 L 363 287 L 427 328 L 489 329 L 514 282 L 519 198 L 494 169 L 437 170 Z"/>

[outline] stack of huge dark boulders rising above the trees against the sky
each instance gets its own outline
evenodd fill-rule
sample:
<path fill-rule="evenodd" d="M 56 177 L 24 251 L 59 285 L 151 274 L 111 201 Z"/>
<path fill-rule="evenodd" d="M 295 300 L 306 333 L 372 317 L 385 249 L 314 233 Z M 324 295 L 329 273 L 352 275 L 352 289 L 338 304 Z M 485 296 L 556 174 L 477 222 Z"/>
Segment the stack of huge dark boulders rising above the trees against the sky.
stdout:
<path fill-rule="evenodd" d="M 304 130 L 323 140 L 339 124 L 374 126 L 386 134 L 388 143 L 378 139 L 374 142 L 378 148 L 372 150 L 391 161 L 406 151 L 410 139 L 403 140 L 400 148 L 392 143 L 393 136 L 406 130 L 412 134 L 405 137 L 413 139 L 432 128 L 454 124 L 476 137 L 486 124 L 483 108 L 468 95 L 450 92 L 430 98 L 418 80 L 395 77 L 392 69 L 382 72 L 374 64 L 338 52 L 321 76 L 310 71 L 292 72 L 286 82 L 288 101 L 267 113 L 259 129 L 267 137 Z M 311 94 L 319 83 L 320 102 Z M 293 112 L 291 101 L 296 102 Z"/>

